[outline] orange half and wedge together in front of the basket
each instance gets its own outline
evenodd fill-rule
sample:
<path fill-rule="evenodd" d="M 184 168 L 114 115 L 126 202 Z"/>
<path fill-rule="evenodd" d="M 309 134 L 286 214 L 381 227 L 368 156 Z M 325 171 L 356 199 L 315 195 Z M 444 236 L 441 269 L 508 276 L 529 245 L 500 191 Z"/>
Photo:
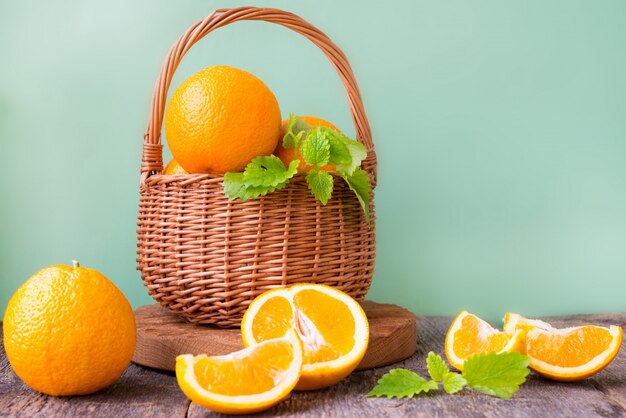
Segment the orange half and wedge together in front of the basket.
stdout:
<path fill-rule="evenodd" d="M 196 404 L 231 414 L 265 410 L 292 389 L 328 387 L 361 362 L 369 325 L 344 292 L 317 284 L 270 290 L 241 323 L 246 348 L 226 356 L 178 356 L 176 377 Z"/>

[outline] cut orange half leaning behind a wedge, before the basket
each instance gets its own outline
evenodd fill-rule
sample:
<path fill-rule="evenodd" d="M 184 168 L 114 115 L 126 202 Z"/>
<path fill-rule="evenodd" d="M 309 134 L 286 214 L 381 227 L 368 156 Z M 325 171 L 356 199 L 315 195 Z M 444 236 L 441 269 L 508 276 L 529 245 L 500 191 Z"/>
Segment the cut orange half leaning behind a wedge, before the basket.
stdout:
<path fill-rule="evenodd" d="M 298 332 L 304 362 L 297 390 L 333 385 L 361 362 L 369 325 L 361 305 L 344 292 L 317 284 L 298 284 L 263 293 L 252 301 L 241 323 L 246 347 Z"/>

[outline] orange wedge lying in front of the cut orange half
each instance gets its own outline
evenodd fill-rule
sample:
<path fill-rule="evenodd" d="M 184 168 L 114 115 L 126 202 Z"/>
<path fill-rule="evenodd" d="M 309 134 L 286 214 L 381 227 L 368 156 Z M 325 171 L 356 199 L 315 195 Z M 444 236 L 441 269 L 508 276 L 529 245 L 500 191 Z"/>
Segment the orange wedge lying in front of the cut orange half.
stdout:
<path fill-rule="evenodd" d="M 209 357 L 176 358 L 176 379 L 194 403 L 226 414 L 251 414 L 287 397 L 300 378 L 302 343 L 295 332 Z"/>

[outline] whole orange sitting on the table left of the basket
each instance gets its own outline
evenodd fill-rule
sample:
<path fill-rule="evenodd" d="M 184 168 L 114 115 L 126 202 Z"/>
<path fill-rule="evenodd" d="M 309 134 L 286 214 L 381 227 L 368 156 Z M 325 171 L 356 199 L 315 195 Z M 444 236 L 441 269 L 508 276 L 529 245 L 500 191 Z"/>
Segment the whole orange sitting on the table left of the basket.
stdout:
<path fill-rule="evenodd" d="M 75 263 L 35 273 L 4 315 L 15 373 L 48 395 L 84 395 L 114 383 L 135 351 L 135 316 L 101 273 Z"/>

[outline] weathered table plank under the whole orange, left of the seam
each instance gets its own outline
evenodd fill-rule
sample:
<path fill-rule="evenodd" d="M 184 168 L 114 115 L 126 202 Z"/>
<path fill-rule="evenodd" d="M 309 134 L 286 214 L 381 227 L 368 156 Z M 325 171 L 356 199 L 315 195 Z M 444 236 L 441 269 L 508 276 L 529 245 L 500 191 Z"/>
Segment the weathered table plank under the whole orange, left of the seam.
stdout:
<path fill-rule="evenodd" d="M 26 386 L 9 364 L 0 330 L 0 416 L 185 417 L 190 401 L 172 373 L 131 364 L 112 386 L 86 396 L 54 397 Z"/>

